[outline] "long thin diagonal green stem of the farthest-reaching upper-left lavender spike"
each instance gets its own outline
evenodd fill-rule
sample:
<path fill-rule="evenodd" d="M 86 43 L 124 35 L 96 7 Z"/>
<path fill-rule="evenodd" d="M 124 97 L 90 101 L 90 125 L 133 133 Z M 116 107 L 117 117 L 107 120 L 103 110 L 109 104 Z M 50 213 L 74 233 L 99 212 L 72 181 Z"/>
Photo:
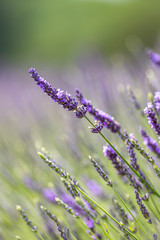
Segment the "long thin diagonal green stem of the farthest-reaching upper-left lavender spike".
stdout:
<path fill-rule="evenodd" d="M 94 124 L 90 121 L 90 119 L 89 119 L 88 117 L 86 117 L 86 116 L 84 116 L 84 117 L 87 119 L 87 121 L 88 121 L 93 127 L 95 127 Z M 137 175 L 137 177 L 141 179 L 141 182 L 142 182 L 142 183 L 145 183 L 145 184 L 152 190 L 152 192 L 153 192 L 154 194 L 156 194 L 158 197 L 160 197 L 160 194 L 159 194 L 156 190 L 154 190 L 154 189 L 152 188 L 152 186 L 150 186 L 150 184 L 147 183 L 147 182 L 139 175 L 138 172 L 136 172 L 136 170 L 135 170 L 135 169 L 127 162 L 127 160 L 118 152 L 118 150 L 112 145 L 112 143 L 111 143 L 101 132 L 99 132 L 99 134 L 100 134 L 101 137 L 110 145 L 110 147 L 117 153 L 117 155 L 126 163 L 126 165 L 132 170 L 132 172 L 134 172 L 134 174 Z M 145 187 L 146 187 L 146 186 L 145 186 Z"/>

